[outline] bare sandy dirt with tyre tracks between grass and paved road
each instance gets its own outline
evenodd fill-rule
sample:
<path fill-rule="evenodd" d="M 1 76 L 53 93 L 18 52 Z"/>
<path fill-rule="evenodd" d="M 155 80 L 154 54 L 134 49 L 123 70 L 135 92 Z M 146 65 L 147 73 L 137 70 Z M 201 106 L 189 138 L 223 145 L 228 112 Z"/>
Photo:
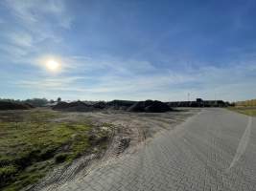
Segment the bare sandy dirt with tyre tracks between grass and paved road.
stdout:
<path fill-rule="evenodd" d="M 76 159 L 70 166 L 55 169 L 44 180 L 29 190 L 55 190 L 59 184 L 75 178 L 86 176 L 94 167 L 105 164 L 108 160 L 121 155 L 132 155 L 140 144 L 151 141 L 156 134 L 172 130 L 188 117 L 199 112 L 199 109 L 179 109 L 168 113 L 129 113 L 108 110 L 88 113 L 62 113 L 58 121 L 90 120 L 103 128 L 113 129 L 112 138 L 104 154 L 86 156 Z"/>

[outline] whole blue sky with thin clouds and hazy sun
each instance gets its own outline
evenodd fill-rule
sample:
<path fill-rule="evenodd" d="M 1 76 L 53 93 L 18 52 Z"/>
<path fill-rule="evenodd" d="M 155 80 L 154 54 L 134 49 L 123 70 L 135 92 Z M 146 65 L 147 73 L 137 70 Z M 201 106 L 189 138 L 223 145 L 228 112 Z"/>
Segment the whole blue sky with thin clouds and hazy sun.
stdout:
<path fill-rule="evenodd" d="M 255 98 L 255 10 L 254 0 L 1 0 L 0 97 Z"/>

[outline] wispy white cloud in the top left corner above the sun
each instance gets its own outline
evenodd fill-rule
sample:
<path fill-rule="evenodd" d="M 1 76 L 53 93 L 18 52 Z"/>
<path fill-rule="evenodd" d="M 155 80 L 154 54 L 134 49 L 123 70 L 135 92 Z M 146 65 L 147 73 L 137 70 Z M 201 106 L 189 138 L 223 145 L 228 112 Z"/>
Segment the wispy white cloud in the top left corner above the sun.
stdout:
<path fill-rule="evenodd" d="M 8 23 L 3 23 L 0 49 L 14 57 L 12 61 L 33 59 L 47 53 L 49 46 L 63 47 L 59 30 L 70 30 L 72 16 L 61 0 L 4 0 L 1 6 L 8 10 Z M 3 53 L 4 54 L 4 53 Z M 22 62 L 24 63 L 24 62 Z"/>

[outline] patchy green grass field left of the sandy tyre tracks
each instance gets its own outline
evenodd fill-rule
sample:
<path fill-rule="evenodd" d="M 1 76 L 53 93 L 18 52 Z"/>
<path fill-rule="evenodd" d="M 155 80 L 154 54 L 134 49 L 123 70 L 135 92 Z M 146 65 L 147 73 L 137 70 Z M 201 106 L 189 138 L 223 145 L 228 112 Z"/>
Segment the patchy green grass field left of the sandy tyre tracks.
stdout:
<path fill-rule="evenodd" d="M 19 190 L 53 167 L 105 148 L 109 132 L 89 121 L 59 122 L 51 110 L 0 113 L 0 190 Z"/>

